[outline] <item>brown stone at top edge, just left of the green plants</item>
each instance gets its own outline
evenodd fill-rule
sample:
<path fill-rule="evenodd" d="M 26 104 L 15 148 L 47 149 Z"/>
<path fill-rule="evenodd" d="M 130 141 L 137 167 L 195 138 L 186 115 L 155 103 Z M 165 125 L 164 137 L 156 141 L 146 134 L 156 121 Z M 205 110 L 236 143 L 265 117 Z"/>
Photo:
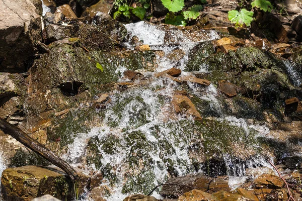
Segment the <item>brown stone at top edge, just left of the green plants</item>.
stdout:
<path fill-rule="evenodd" d="M 81 17 L 89 16 L 93 18 L 97 14 L 102 16 L 107 16 L 109 15 L 112 8 L 113 8 L 112 0 L 100 0 L 97 4 L 92 5 L 89 8 L 86 8 L 85 11 L 82 13 Z"/>

